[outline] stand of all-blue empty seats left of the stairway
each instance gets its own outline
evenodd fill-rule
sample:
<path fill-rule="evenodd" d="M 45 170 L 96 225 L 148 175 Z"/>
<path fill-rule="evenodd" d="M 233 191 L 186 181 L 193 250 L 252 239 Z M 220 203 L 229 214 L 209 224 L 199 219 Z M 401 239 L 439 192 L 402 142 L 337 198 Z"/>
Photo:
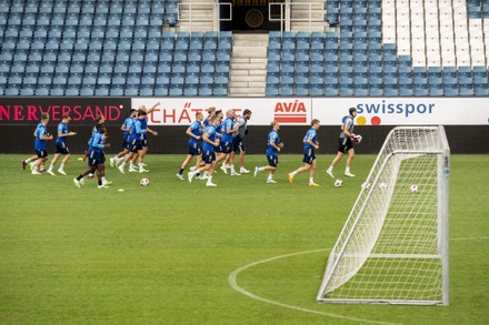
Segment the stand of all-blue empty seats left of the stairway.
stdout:
<path fill-rule="evenodd" d="M 231 32 L 171 32 L 178 1 L 0 4 L 0 95 L 227 95 Z"/>

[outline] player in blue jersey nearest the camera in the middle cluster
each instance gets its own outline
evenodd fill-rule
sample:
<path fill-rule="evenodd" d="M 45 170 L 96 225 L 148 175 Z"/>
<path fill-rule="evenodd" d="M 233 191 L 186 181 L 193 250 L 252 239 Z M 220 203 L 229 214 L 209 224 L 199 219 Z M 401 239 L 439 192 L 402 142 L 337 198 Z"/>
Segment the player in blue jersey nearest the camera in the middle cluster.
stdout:
<path fill-rule="evenodd" d="M 216 128 L 219 124 L 219 118 L 212 116 L 209 119 L 209 125 L 206 128 L 206 131 L 202 134 L 203 145 L 202 145 L 202 160 L 206 163 L 204 166 L 197 169 L 193 172 L 189 172 L 189 182 L 192 182 L 194 175 L 203 173 L 206 171 L 209 172 L 209 176 L 207 179 L 207 186 L 213 187 L 217 186 L 212 183 L 212 175 L 216 170 L 216 152 L 214 148 L 219 145 L 219 136 L 216 132 Z"/>

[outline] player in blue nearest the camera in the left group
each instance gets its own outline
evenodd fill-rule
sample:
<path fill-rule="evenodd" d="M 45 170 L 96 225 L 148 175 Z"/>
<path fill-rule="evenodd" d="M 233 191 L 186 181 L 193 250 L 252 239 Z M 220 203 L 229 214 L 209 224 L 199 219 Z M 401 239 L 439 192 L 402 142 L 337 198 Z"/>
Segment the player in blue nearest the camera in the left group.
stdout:
<path fill-rule="evenodd" d="M 97 170 L 98 187 L 108 189 L 111 182 L 104 181 L 106 176 L 106 154 L 103 150 L 109 148 L 110 144 L 106 143 L 106 125 L 99 123 L 96 125 L 96 132 L 91 135 L 88 142 L 88 167 L 78 177 L 73 179 L 74 185 L 81 187 L 84 184 L 83 177 L 90 173 L 94 173 Z"/>

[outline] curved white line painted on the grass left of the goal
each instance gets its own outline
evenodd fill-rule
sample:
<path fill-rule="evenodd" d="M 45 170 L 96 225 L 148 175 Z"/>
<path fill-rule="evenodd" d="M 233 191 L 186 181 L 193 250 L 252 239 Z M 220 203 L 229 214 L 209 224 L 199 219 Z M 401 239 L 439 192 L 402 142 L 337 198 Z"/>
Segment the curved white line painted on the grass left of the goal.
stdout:
<path fill-rule="evenodd" d="M 243 271 L 246 271 L 248 268 L 251 268 L 253 266 L 257 266 L 257 265 L 260 265 L 260 264 L 265 264 L 265 263 L 268 263 L 268 262 L 272 262 L 272 261 L 276 261 L 276 260 L 280 260 L 280 258 L 287 258 L 287 257 L 292 257 L 292 256 L 302 255 L 302 254 L 312 254 L 312 253 L 319 253 L 319 252 L 328 252 L 328 251 L 330 251 L 330 248 L 297 252 L 297 253 L 285 254 L 285 255 L 280 255 L 280 256 L 275 256 L 275 257 L 270 257 L 270 258 L 252 262 L 250 264 L 243 265 L 243 266 L 238 267 L 237 270 L 234 270 L 229 275 L 228 282 L 229 282 L 229 285 L 234 291 L 239 292 L 240 294 L 243 294 L 243 295 L 246 295 L 246 296 L 248 296 L 248 297 L 250 297 L 252 299 L 256 299 L 256 301 L 259 301 L 259 302 L 263 302 L 263 303 L 267 303 L 267 304 L 271 304 L 271 305 L 276 305 L 276 306 L 279 306 L 279 307 L 289 308 L 289 309 L 292 309 L 292 311 L 298 311 L 298 312 L 303 312 L 303 313 L 321 315 L 321 316 L 328 316 L 328 317 L 332 317 L 332 318 L 353 321 L 353 322 L 362 322 L 362 323 L 369 323 L 369 324 L 396 324 L 396 323 L 378 322 L 378 321 L 372 321 L 372 319 L 358 318 L 358 317 L 345 316 L 345 315 L 340 315 L 340 314 L 320 312 L 320 311 L 315 311 L 315 309 L 309 309 L 309 308 L 303 308 L 303 307 L 299 307 L 299 306 L 295 306 L 295 305 L 289 305 L 289 304 L 276 302 L 276 301 L 268 299 L 268 298 L 261 297 L 259 295 L 256 295 L 256 294 L 244 290 L 243 287 L 241 287 L 238 284 L 238 281 L 237 281 L 238 275 L 241 272 L 243 272 Z"/>

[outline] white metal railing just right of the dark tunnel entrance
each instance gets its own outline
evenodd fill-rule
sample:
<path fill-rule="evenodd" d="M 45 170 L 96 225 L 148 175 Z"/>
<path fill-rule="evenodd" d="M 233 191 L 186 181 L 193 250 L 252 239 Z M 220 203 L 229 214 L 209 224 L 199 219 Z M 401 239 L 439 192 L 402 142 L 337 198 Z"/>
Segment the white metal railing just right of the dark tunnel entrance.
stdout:
<path fill-rule="evenodd" d="M 280 17 L 272 17 L 272 7 L 280 7 Z M 307 18 L 291 18 L 293 7 L 306 7 L 308 10 Z M 317 11 L 321 12 L 321 18 L 312 18 L 312 13 L 317 14 Z M 268 3 L 268 20 L 280 21 L 280 32 L 283 32 L 283 23 L 288 26 L 286 30 L 290 30 L 290 22 L 309 22 L 309 31 L 312 31 L 312 22 L 325 22 L 325 2 L 288 2 L 288 3 Z"/>

